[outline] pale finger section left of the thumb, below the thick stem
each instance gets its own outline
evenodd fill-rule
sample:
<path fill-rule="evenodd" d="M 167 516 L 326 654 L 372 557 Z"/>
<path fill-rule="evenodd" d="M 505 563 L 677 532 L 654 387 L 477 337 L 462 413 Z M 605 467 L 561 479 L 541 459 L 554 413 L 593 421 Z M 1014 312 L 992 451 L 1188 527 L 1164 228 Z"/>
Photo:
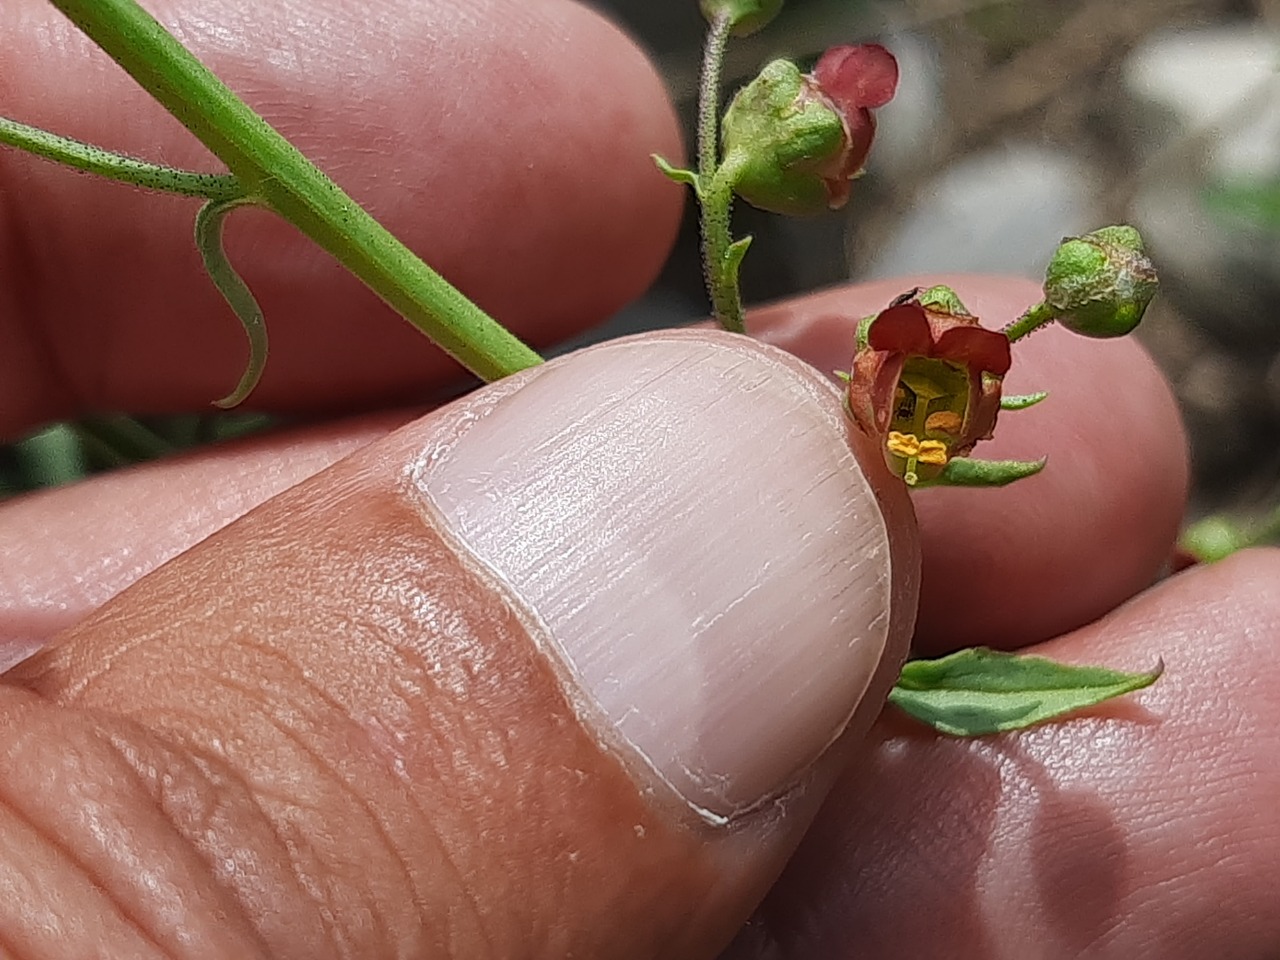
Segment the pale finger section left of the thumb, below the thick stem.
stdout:
<path fill-rule="evenodd" d="M 0 671 L 192 544 L 410 419 L 378 413 L 214 444 L 0 504 Z"/>

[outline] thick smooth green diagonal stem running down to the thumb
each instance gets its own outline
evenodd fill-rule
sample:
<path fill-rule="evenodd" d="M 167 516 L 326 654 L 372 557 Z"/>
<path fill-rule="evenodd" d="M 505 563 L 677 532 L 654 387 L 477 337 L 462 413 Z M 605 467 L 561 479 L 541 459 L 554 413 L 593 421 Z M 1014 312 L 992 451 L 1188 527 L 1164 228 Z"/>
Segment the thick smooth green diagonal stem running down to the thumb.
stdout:
<path fill-rule="evenodd" d="M 244 186 L 485 380 L 541 362 L 419 260 L 134 0 L 51 0 Z"/>

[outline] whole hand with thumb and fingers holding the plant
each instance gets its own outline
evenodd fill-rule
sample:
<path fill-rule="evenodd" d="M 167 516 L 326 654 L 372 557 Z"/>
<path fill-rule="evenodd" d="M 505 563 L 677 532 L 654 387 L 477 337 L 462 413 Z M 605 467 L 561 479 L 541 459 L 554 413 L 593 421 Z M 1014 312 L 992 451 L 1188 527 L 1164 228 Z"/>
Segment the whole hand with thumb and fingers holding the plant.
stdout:
<path fill-rule="evenodd" d="M 330 13 L 351 17 L 342 6 Z M 326 79 L 333 64 L 380 74 L 361 82 L 372 116 L 353 120 L 339 115 L 351 100 L 317 99 L 306 115 L 271 119 L 522 333 L 554 339 L 605 315 L 648 282 L 678 204 L 645 159 L 675 152 L 657 81 L 626 41 L 567 4 L 522 4 L 524 20 L 497 1 L 421 9 L 416 29 L 329 23 L 324 38 L 353 45 L 334 50 L 300 36 L 320 27 L 288 23 L 283 8 L 246 6 L 234 36 L 275 50 L 274 68 L 219 47 L 228 35 L 198 23 L 187 38 L 262 104 L 298 102 L 298 84 L 340 86 Z M 308 8 L 314 23 L 323 13 Z M 14 14 L 54 19 L 37 4 L 3 15 Z M 29 23 L 13 35 L 51 49 L 6 49 L 22 58 L 0 76 L 15 78 L 14 96 L 32 97 L 14 113 L 192 159 L 182 132 L 125 78 L 102 68 L 95 79 L 70 28 Z M 282 54 L 293 44 L 298 56 L 326 50 L 320 65 L 292 72 Z M 420 84 L 406 90 L 402 65 L 379 65 L 392 46 L 401 63 L 420 61 Z M 475 101 L 449 114 L 457 125 L 428 129 L 442 96 L 457 106 L 442 64 L 463 55 L 492 55 L 493 72 L 481 74 L 499 90 L 518 77 L 522 110 L 513 115 L 492 88 L 467 90 Z M 24 79 L 19 68 L 36 64 L 41 76 Z M 65 88 L 51 91 L 50 78 Z M 616 129 L 602 134 L 596 111 L 566 91 L 598 93 Z M 134 125 L 119 128 L 122 118 Z M 513 129 L 521 122 L 534 129 Z M 380 140 L 387 150 L 367 169 L 342 166 L 347 142 Z M 442 142 L 453 150 L 439 152 Z M 0 353 L 6 429 L 74 408 L 172 410 L 219 396 L 241 346 L 195 257 L 183 259 L 189 210 L 0 156 L 0 182 L 18 184 L 3 193 L 8 215 L 24 228 L 0 257 L 5 289 L 22 291 L 0 317 L 13 344 Z M 440 156 L 494 166 L 460 186 L 457 161 Z M 564 156 L 591 163 L 564 172 Z M 433 186 L 388 184 L 388 170 Z M 415 189 L 422 198 L 403 202 Z M 257 401 L 343 410 L 421 399 L 422 383 L 445 381 L 448 365 L 337 268 L 265 218 L 242 227 L 232 256 L 275 337 Z M 76 262 L 116 246 L 129 256 L 113 275 Z M 1012 282 L 950 282 L 988 317 L 1011 315 L 1030 293 Z M 818 370 L 840 367 L 850 319 L 909 285 L 806 298 L 760 311 L 753 325 Z M 49 344 L 59 378 L 23 346 L 33 343 Z M 677 375 L 672 351 L 684 358 Z M 707 376 L 685 372 L 699 367 Z M 708 376 L 722 378 L 714 397 Z M 1144 588 L 1167 553 L 1185 483 L 1176 413 L 1149 361 L 1123 342 L 1038 334 L 1020 348 L 1011 392 L 1018 376 L 1048 387 L 1053 406 L 1010 417 L 993 443 L 1007 456 L 1047 449 L 1052 467 L 1000 492 L 915 499 L 918 645 L 1028 646 L 1065 634 L 1046 653 L 1126 668 L 1164 655 L 1169 671 L 1140 708 L 977 742 L 893 721 L 867 737 L 909 612 L 895 609 L 882 634 L 876 616 L 886 590 L 909 590 L 911 564 L 850 541 L 854 509 L 870 512 L 872 500 L 835 394 L 746 339 L 654 335 L 504 381 L 389 436 L 408 413 L 214 448 L 6 504 L 0 630 L 29 643 L 70 628 L 0 690 L 9 850 L 0 940 L 36 956 L 698 956 L 732 936 L 817 814 L 736 950 L 1025 956 L 1030 945 L 1044 956 L 1167 957 L 1202 956 L 1212 943 L 1228 956 L 1262 955 L 1277 936 L 1261 881 L 1280 845 L 1266 803 L 1276 792 L 1280 694 L 1254 676 L 1251 655 L 1280 625 L 1266 589 L 1280 564 L 1253 553 L 1193 571 L 1091 625 Z M 643 403 L 637 383 L 649 384 Z M 596 415 L 622 397 L 626 416 Z M 466 412 L 485 425 L 466 431 L 483 444 L 452 444 Z M 754 431 L 762 420 L 773 429 Z M 667 443 L 646 448 L 660 456 L 637 475 L 628 444 L 659 428 Z M 424 458 L 433 449 L 448 454 Z M 530 470 L 535 461 L 545 470 Z M 631 483 L 611 486 L 628 474 Z M 415 475 L 447 536 L 466 538 L 525 600 L 540 589 L 530 571 L 558 579 L 559 594 L 530 604 L 547 630 L 513 620 L 506 589 L 453 559 L 424 522 Z M 508 480 L 500 492 L 471 489 Z M 726 481 L 732 495 L 717 493 Z M 566 488 L 573 503 L 609 509 L 582 518 L 548 506 L 549 494 L 567 500 Z M 681 509 L 695 494 L 696 509 Z M 910 552 L 901 495 L 881 495 L 881 545 Z M 531 540 L 511 532 L 520 516 L 485 512 L 490 502 L 547 521 L 530 531 L 549 531 L 539 540 L 545 562 L 516 567 Z M 791 511 L 790 526 L 765 522 L 762 511 L 774 507 Z M 618 520 L 631 516 L 644 522 Z M 668 582 L 672 593 L 659 588 L 663 570 L 623 570 L 628 559 L 696 557 L 713 534 L 723 538 L 716 563 L 686 563 L 682 575 L 696 581 Z M 620 580 L 598 575 L 605 561 L 621 564 Z M 836 581 L 856 589 L 840 596 Z M 701 604 L 678 611 L 681 630 L 717 618 L 733 627 L 708 626 L 696 662 L 671 643 L 676 620 L 657 609 L 672 595 Z M 598 613 L 595 628 L 575 634 L 558 596 Z M 780 617 L 795 625 L 786 636 L 765 626 Z M 878 663 L 845 654 L 859 618 L 888 649 Z M 617 659 L 586 671 L 590 692 L 534 643 L 595 635 Z M 777 658 L 778 669 L 732 677 L 744 652 L 769 666 Z M 728 777 L 719 799 L 730 806 L 780 799 L 728 827 L 694 817 L 617 742 L 612 675 L 654 721 L 623 727 L 632 742 L 655 756 L 662 745 L 701 748 L 707 769 Z M 849 732 L 820 750 L 865 684 Z M 714 716 L 724 704 L 737 722 L 782 732 L 746 740 Z M 716 800 L 698 792 L 705 781 L 678 786 Z"/>

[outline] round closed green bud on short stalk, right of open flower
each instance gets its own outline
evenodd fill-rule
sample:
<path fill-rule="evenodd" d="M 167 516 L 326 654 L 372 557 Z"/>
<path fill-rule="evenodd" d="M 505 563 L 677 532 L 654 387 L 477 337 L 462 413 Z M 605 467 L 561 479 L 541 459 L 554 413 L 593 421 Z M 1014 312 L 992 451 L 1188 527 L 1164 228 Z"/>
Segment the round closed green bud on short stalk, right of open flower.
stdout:
<path fill-rule="evenodd" d="M 1055 319 L 1084 337 L 1124 337 L 1156 296 L 1156 268 L 1133 227 L 1069 237 L 1044 271 L 1044 302 Z"/>

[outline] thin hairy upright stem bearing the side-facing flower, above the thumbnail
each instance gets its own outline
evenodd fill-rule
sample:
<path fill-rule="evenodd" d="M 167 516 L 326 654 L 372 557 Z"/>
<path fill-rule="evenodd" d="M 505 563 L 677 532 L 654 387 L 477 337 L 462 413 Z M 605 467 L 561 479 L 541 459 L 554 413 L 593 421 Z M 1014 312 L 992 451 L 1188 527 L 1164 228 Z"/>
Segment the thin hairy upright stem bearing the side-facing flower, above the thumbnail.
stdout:
<path fill-rule="evenodd" d="M 698 200 L 701 206 L 703 270 L 712 311 L 726 330 L 744 333 L 746 328 L 737 287 L 737 265 L 730 260 L 733 172 L 717 165 L 721 67 L 732 26 L 733 20 L 728 14 L 713 19 L 703 51 L 703 72 L 698 86 Z"/>

